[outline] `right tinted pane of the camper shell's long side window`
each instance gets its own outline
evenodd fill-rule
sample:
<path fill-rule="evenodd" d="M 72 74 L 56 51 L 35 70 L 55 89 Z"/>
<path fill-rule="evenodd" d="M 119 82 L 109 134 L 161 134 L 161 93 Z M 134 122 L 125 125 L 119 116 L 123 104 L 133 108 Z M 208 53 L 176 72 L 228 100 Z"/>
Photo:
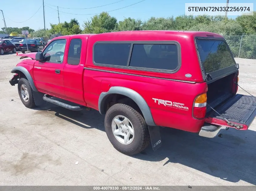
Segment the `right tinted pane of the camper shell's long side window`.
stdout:
<path fill-rule="evenodd" d="M 130 66 L 175 70 L 178 67 L 176 44 L 134 44 Z"/>

